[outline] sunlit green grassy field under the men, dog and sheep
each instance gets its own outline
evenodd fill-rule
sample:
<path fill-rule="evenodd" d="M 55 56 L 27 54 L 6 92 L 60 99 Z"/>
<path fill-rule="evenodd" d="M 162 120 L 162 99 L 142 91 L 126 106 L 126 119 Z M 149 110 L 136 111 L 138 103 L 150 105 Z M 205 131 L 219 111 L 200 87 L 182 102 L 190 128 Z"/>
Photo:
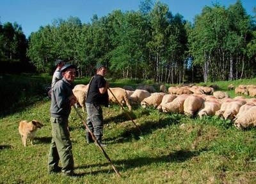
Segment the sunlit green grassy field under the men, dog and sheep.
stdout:
<path fill-rule="evenodd" d="M 228 82 L 216 84 L 227 90 Z M 69 118 L 70 134 L 75 172 L 81 177 L 48 174 L 50 104 L 45 97 L 0 119 L 0 183 L 256 183 L 256 129 L 239 131 L 216 117 L 188 118 L 134 106 L 131 117 L 140 134 L 117 105 L 104 108 L 104 141 L 109 144 L 104 150 L 122 178 L 97 146 L 86 144 L 75 110 Z M 25 148 L 18 126 L 20 120 L 32 119 L 45 126 L 36 132 L 35 145 Z"/>

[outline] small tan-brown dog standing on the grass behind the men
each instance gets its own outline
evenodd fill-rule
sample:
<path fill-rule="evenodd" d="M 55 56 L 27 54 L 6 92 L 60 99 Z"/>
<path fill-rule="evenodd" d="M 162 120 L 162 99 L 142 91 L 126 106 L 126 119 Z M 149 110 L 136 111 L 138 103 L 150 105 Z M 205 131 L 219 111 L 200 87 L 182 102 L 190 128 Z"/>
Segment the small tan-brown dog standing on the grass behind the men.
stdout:
<path fill-rule="evenodd" d="M 38 128 L 41 129 L 42 127 L 44 127 L 44 125 L 38 122 L 37 120 L 32 120 L 31 122 L 22 120 L 19 125 L 19 133 L 23 145 L 26 146 L 27 139 L 29 139 L 29 141 L 31 141 L 31 145 L 33 145 L 33 140 L 35 138 L 36 131 Z"/>

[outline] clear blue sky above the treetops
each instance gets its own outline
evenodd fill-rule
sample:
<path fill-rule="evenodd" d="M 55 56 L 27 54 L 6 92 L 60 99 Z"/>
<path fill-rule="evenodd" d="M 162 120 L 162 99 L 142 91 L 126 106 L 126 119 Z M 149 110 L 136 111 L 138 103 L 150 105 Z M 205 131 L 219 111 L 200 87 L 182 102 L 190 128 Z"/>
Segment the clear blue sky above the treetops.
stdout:
<path fill-rule="evenodd" d="M 39 27 L 52 24 L 54 19 L 78 17 L 82 23 L 91 21 L 93 15 L 102 17 L 113 10 L 138 10 L 140 0 L 1 0 L 0 22 L 17 22 L 22 27 L 24 34 L 28 36 L 31 32 L 38 31 Z M 152 0 L 155 2 L 155 0 Z M 193 22 L 195 15 L 201 13 L 204 6 L 219 3 L 226 8 L 236 0 L 161 0 L 168 5 L 169 10 L 175 15 L 180 13 L 185 20 Z M 256 1 L 241 1 L 246 12 L 253 13 Z"/>

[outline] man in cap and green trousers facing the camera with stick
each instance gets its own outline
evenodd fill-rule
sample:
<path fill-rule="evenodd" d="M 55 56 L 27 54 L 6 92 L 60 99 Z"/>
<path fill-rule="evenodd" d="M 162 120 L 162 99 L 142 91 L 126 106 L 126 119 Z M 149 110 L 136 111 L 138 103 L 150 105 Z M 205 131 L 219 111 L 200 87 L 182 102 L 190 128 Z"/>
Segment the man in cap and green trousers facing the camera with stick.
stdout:
<path fill-rule="evenodd" d="M 66 64 L 61 67 L 60 71 L 63 78 L 56 81 L 52 87 L 50 108 L 52 141 L 48 157 L 48 171 L 49 173 L 61 171 L 65 176 L 75 176 L 68 116 L 71 107 L 76 103 L 76 97 L 72 92 L 76 67 L 73 64 Z M 58 166 L 59 161 L 61 161 L 62 168 Z"/>

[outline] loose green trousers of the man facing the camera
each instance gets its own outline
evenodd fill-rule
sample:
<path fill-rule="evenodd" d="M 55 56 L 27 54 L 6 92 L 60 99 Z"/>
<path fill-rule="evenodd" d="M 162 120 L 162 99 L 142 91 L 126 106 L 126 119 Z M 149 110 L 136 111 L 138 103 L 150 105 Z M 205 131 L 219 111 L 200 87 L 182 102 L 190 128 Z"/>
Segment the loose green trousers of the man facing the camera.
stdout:
<path fill-rule="evenodd" d="M 74 158 L 72 154 L 72 143 L 68 132 L 67 118 L 51 117 L 52 141 L 48 157 L 48 171 L 58 170 L 61 162 L 63 173 L 71 173 L 74 170 Z"/>

